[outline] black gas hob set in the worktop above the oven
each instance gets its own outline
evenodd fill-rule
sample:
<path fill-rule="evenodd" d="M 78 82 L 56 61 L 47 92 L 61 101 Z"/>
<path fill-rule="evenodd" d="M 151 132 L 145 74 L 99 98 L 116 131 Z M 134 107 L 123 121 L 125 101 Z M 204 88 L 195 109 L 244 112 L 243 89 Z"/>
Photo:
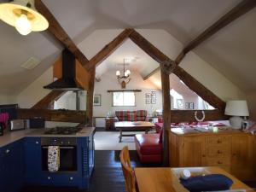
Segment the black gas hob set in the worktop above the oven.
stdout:
<path fill-rule="evenodd" d="M 50 128 L 45 131 L 45 135 L 75 135 L 77 132 L 81 131 L 81 127 L 76 126 L 57 126 L 55 128 Z"/>

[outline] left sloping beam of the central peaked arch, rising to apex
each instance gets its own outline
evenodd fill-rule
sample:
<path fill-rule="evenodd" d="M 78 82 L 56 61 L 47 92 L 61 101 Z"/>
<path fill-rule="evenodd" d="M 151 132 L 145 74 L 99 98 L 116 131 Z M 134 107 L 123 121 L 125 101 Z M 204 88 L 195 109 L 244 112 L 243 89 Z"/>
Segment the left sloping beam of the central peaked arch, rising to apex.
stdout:
<path fill-rule="evenodd" d="M 105 45 L 100 52 L 90 59 L 88 62 L 88 67 L 91 69 L 108 58 L 108 56 L 111 55 L 115 49 L 118 49 L 119 46 L 125 42 L 125 40 L 130 36 L 131 32 L 133 32 L 133 29 L 127 28 L 121 32 L 119 36 L 114 38 L 113 41 Z"/>

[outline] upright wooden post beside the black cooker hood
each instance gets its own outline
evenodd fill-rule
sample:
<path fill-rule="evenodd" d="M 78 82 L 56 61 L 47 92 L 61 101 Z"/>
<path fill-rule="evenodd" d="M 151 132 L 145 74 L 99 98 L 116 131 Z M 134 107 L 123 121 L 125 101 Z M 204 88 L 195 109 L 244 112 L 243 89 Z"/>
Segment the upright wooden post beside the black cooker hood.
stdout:
<path fill-rule="evenodd" d="M 94 95 L 94 82 L 95 82 L 96 66 L 90 69 L 89 88 L 86 94 L 86 119 L 85 124 L 93 126 L 93 95 Z"/>

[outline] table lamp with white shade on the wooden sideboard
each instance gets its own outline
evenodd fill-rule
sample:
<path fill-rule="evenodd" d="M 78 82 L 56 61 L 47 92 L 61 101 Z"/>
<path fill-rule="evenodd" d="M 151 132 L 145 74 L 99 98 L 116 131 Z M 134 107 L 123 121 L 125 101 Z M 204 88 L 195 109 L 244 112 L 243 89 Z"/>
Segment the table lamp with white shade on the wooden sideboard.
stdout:
<path fill-rule="evenodd" d="M 233 116 L 230 118 L 230 125 L 234 129 L 241 129 L 241 122 L 244 117 L 246 119 L 249 116 L 247 107 L 247 101 L 244 100 L 232 100 L 226 103 L 225 114 Z"/>

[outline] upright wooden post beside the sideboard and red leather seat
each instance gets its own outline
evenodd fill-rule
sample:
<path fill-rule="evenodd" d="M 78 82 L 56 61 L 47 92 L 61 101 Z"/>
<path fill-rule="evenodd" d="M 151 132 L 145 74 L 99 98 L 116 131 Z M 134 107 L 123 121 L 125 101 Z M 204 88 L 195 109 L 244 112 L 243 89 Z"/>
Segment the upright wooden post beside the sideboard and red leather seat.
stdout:
<path fill-rule="evenodd" d="M 169 149 L 168 149 L 168 130 L 171 128 L 171 96 L 170 96 L 170 79 L 164 67 L 161 67 L 161 84 L 163 98 L 163 166 L 169 164 Z"/>

